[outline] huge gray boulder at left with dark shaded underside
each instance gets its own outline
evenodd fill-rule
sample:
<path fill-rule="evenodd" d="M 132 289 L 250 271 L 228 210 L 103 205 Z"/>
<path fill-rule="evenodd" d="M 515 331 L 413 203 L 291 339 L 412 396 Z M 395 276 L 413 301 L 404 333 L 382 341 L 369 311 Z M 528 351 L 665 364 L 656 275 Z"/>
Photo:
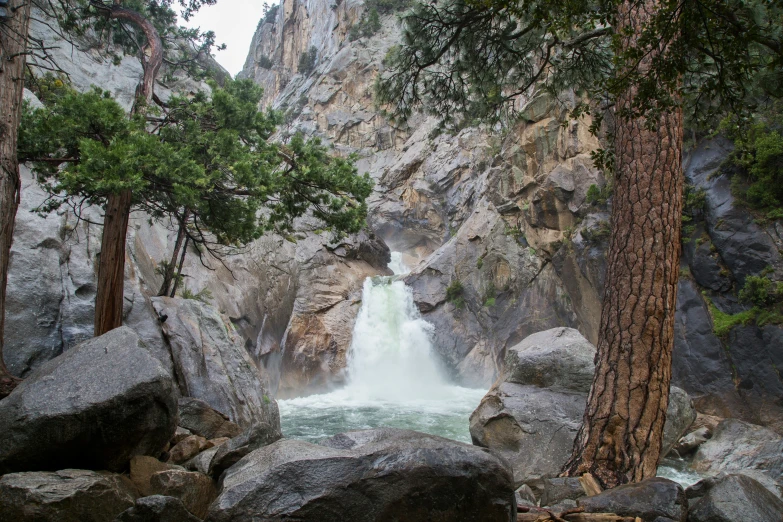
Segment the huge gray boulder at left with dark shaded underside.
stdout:
<path fill-rule="evenodd" d="M 48 361 L 0 401 L 0 473 L 124 469 L 174 434 L 177 397 L 160 363 L 127 327 Z"/>

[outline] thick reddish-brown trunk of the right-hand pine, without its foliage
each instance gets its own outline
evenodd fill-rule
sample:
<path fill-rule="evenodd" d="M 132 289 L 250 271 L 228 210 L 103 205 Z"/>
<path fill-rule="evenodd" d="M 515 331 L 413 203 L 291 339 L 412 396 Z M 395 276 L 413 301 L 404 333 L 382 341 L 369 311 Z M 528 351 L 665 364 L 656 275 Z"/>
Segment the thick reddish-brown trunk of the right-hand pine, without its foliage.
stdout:
<path fill-rule="evenodd" d="M 625 2 L 618 34 L 635 44 L 657 3 Z M 624 30 L 629 29 L 628 33 Z M 665 52 L 659 49 L 658 52 Z M 640 67 L 649 63 L 642 62 Z M 563 473 L 603 487 L 654 477 L 669 402 L 682 217 L 682 110 L 654 125 L 617 100 L 612 237 L 593 385 Z"/>

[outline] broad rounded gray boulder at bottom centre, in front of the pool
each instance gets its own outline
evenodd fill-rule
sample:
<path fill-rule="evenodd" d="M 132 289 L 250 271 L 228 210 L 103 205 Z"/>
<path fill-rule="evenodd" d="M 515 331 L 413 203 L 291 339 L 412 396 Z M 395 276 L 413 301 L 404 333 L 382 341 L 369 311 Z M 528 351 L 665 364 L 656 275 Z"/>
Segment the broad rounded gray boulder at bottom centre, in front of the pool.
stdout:
<path fill-rule="evenodd" d="M 511 471 L 491 452 L 376 429 L 324 445 L 281 440 L 250 453 L 226 472 L 206 520 L 510 521 L 515 514 Z"/>

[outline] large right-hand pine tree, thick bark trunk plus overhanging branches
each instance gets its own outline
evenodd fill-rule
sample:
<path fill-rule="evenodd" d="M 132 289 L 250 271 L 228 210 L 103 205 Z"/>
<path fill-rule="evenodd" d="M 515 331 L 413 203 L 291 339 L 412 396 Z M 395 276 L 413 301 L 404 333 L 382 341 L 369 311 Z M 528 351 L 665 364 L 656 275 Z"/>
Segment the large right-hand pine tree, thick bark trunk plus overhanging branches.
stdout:
<path fill-rule="evenodd" d="M 441 0 L 403 17 L 379 100 L 447 121 L 498 120 L 534 90 L 610 107 L 612 239 L 596 372 L 564 473 L 607 487 L 655 475 L 671 379 L 680 257 L 683 109 L 694 122 L 752 110 L 748 86 L 780 68 L 781 8 L 740 0 Z"/>

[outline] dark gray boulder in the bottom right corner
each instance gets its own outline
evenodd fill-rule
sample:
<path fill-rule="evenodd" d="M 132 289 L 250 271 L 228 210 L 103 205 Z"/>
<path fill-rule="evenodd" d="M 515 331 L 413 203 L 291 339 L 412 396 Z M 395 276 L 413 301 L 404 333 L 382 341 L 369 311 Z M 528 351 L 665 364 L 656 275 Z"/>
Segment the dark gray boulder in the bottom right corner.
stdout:
<path fill-rule="evenodd" d="M 783 501 L 746 475 L 704 479 L 687 489 L 688 522 L 780 522 Z"/>

